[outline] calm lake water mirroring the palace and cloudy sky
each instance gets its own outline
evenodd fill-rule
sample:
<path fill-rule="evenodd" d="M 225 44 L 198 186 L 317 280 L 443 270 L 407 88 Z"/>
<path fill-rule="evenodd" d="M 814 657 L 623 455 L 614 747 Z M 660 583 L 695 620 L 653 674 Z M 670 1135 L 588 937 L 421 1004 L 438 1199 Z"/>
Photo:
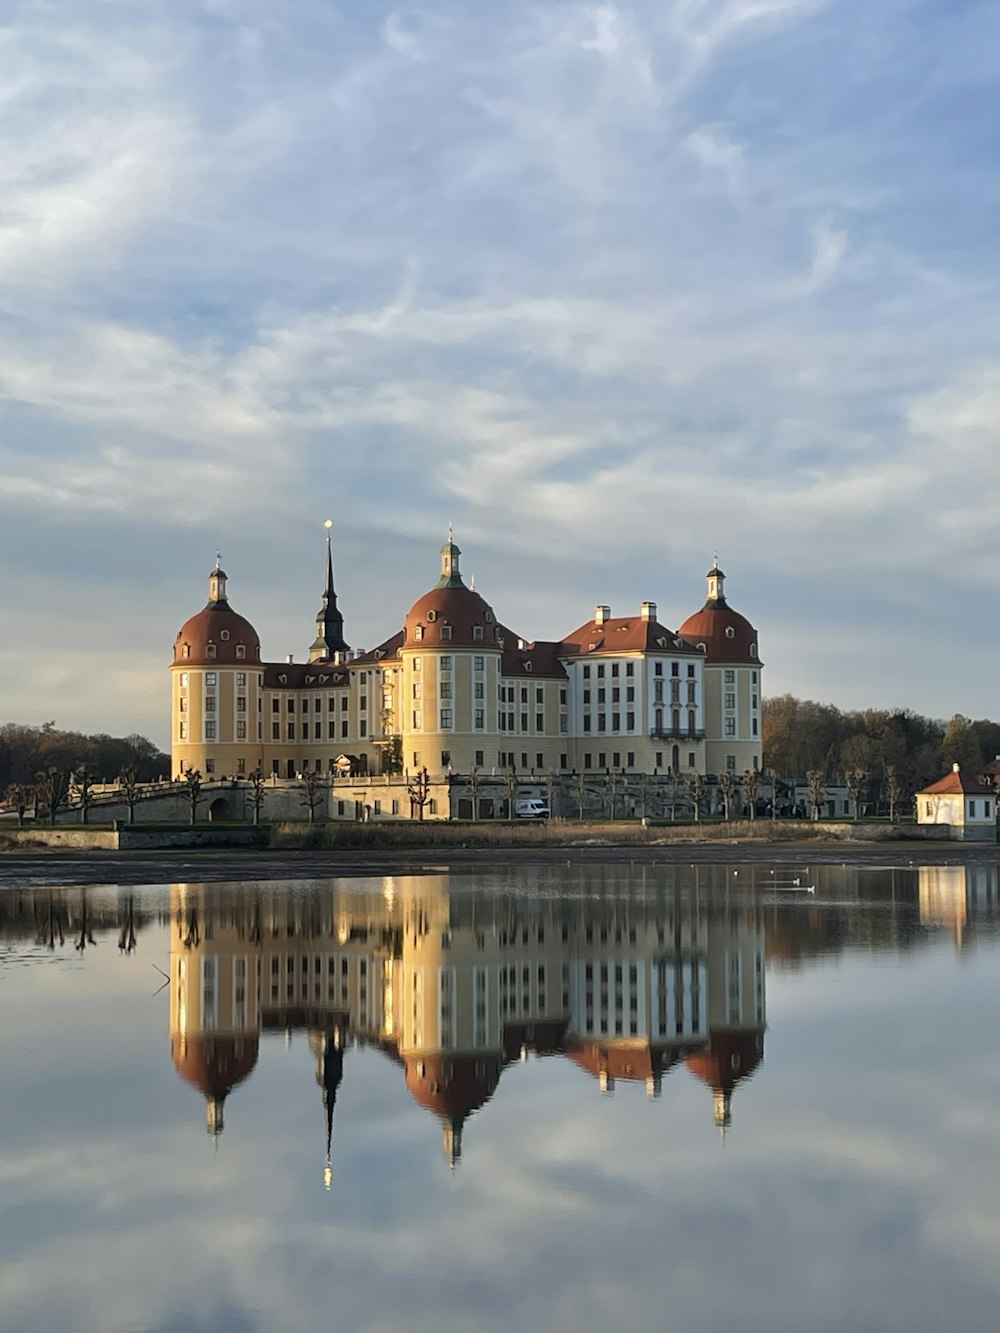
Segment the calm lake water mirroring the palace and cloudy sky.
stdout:
<path fill-rule="evenodd" d="M 960 864 L 0 894 L 0 1328 L 995 1328 L 999 944 Z"/>

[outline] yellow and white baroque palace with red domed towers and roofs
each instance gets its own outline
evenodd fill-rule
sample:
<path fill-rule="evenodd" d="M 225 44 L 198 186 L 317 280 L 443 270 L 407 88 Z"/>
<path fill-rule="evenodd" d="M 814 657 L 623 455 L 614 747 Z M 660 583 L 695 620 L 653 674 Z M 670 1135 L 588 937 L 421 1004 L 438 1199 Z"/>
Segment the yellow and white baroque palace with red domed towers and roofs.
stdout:
<path fill-rule="evenodd" d="M 437 583 L 403 629 L 363 652 L 344 637 L 328 539 L 323 605 L 303 663 L 263 660 L 217 561 L 207 605 L 173 645 L 175 778 L 196 769 L 209 781 L 255 770 L 275 782 L 316 773 L 403 781 L 427 770 L 432 784 L 512 772 L 551 782 L 760 768 L 757 635 L 729 607 L 717 563 L 704 605 L 677 631 L 644 601 L 629 616 L 599 605 L 561 639 L 529 643 L 465 585 L 460 555 L 449 535 Z M 376 813 L 412 813 L 405 800 L 385 805 Z M 431 801 L 427 813 L 449 809 Z"/>

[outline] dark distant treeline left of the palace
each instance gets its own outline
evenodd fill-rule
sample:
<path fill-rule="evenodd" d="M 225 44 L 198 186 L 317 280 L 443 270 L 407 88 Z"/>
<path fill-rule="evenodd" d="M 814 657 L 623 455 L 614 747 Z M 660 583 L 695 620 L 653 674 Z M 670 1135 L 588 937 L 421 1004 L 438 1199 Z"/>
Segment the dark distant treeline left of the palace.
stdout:
<path fill-rule="evenodd" d="M 169 777 L 171 761 L 145 736 L 84 736 L 61 732 L 55 722 L 0 726 L 0 792 L 17 782 L 32 784 L 51 769 L 68 776 L 81 768 L 93 782 L 113 782 L 125 770 L 139 782 L 151 782 Z"/>

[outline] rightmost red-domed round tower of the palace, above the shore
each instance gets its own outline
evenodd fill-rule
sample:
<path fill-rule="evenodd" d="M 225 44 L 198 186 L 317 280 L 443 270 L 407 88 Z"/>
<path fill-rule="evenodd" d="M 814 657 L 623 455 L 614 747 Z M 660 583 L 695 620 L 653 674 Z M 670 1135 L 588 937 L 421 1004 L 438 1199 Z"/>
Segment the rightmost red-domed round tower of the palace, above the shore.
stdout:
<path fill-rule="evenodd" d="M 757 632 L 725 600 L 719 561 L 705 575 L 708 597 L 677 633 L 704 653 L 705 770 L 761 766 L 761 680 Z"/>

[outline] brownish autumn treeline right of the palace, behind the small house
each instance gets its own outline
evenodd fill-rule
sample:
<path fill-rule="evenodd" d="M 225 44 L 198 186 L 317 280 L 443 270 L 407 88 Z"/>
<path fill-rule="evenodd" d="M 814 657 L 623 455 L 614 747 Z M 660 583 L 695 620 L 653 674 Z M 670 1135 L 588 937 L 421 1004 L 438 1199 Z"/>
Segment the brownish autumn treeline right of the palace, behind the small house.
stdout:
<path fill-rule="evenodd" d="M 764 700 L 764 768 L 780 777 L 821 770 L 831 780 L 864 772 L 877 788 L 888 770 L 908 792 L 943 777 L 952 764 L 979 774 L 1000 756 L 1000 722 L 921 717 L 909 709 L 841 713 L 832 704 L 780 694 Z"/>

